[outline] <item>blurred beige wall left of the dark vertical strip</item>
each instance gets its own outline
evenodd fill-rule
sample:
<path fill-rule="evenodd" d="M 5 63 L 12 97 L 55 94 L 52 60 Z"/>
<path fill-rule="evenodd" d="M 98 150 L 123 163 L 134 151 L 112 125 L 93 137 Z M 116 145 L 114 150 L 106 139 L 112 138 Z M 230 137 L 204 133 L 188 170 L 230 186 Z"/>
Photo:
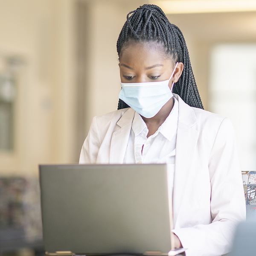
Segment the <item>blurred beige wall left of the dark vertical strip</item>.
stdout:
<path fill-rule="evenodd" d="M 2 175 L 37 175 L 73 160 L 73 1 L 0 0 L 0 54 L 19 56 L 15 145 Z"/>

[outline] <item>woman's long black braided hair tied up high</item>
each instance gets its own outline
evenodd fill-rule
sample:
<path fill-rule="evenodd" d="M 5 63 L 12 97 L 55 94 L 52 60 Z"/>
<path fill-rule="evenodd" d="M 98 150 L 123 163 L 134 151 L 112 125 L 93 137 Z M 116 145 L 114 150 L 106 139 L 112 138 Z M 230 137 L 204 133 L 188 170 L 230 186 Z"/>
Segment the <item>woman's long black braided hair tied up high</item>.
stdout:
<path fill-rule="evenodd" d="M 175 83 L 173 92 L 177 93 L 189 106 L 204 109 L 183 34 L 177 26 L 169 22 L 162 9 L 156 5 L 144 4 L 128 13 L 116 44 L 119 58 L 122 55 L 122 49 L 130 43 L 145 41 L 163 44 L 166 53 L 171 55 L 175 62 L 184 64 L 183 73 Z M 118 109 L 128 107 L 119 99 Z"/>

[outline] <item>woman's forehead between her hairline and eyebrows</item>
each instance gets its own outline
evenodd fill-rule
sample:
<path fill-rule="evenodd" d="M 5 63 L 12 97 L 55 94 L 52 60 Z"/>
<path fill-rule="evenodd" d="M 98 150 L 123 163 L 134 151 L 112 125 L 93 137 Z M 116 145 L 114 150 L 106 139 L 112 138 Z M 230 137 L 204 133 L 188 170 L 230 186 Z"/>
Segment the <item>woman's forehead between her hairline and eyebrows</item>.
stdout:
<path fill-rule="evenodd" d="M 157 63 L 172 64 L 172 57 L 166 54 L 162 44 L 157 42 L 133 42 L 122 49 L 120 63 L 150 66 Z"/>

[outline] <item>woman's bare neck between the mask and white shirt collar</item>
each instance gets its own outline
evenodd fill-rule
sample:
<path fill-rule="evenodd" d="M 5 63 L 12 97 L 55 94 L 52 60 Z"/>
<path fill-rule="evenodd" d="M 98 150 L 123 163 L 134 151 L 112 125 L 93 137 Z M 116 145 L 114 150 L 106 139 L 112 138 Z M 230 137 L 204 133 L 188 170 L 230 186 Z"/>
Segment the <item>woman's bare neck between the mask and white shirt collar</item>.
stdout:
<path fill-rule="evenodd" d="M 168 102 L 166 102 L 165 105 L 163 105 L 163 108 L 161 108 L 160 111 L 155 116 L 151 118 L 145 118 L 144 116 L 141 116 L 148 127 L 147 137 L 154 134 L 158 130 L 158 128 L 163 124 L 167 116 L 169 116 L 169 114 L 171 113 L 173 105 L 174 100 L 172 98 Z"/>

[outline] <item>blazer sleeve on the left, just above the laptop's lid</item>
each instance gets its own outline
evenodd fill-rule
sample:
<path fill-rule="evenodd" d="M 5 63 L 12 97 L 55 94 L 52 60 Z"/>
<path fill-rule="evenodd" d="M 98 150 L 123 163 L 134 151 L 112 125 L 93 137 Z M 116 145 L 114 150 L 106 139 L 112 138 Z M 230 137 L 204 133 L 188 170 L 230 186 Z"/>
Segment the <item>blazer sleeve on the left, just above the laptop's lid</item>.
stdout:
<path fill-rule="evenodd" d="M 93 117 L 89 133 L 81 149 L 79 164 L 94 164 L 101 145 L 97 117 Z"/>

